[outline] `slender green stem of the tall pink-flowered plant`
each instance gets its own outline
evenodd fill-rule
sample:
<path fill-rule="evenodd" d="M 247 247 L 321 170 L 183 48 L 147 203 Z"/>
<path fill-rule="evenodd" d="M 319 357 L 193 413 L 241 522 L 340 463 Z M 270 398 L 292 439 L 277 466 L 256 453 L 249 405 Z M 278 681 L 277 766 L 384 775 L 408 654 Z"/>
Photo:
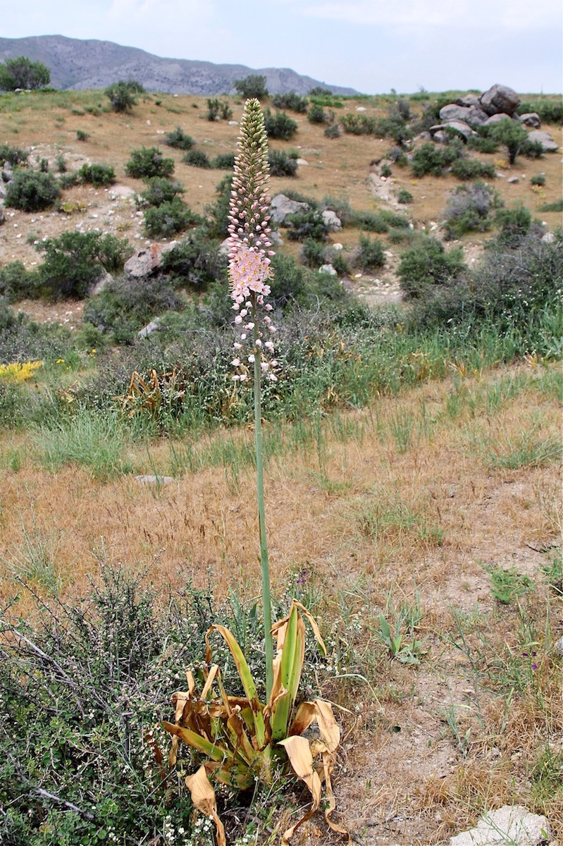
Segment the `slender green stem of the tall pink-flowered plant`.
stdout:
<path fill-rule="evenodd" d="M 253 294 L 254 299 L 254 294 Z M 256 306 L 253 302 L 254 341 L 258 338 Z M 260 525 L 260 565 L 262 568 L 262 605 L 264 607 L 264 636 L 266 661 L 266 702 L 270 700 L 274 681 L 274 651 L 271 638 L 271 592 L 268 543 L 265 531 L 264 511 L 264 462 L 262 454 L 262 408 L 260 397 L 260 347 L 254 344 L 254 444 L 256 448 L 256 493 L 258 498 L 258 521 Z"/>

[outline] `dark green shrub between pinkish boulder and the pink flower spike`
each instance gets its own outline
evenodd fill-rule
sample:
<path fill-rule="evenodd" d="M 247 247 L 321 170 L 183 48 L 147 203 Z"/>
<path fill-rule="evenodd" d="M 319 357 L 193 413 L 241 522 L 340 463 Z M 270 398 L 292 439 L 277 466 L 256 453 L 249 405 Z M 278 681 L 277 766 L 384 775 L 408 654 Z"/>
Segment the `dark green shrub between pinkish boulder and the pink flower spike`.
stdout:
<path fill-rule="evenodd" d="M 162 271 L 168 273 L 174 284 L 189 285 L 203 290 L 227 275 L 227 255 L 219 252 L 219 244 L 212 241 L 201 229 L 193 229 L 162 256 Z"/>

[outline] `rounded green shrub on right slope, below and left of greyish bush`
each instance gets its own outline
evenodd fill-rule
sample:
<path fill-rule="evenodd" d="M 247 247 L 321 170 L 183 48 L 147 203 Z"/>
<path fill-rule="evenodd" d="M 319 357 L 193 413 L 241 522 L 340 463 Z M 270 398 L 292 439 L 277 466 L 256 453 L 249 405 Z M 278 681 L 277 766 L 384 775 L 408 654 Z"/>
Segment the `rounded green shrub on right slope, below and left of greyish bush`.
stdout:
<path fill-rule="evenodd" d="M 444 285 L 465 269 L 461 248 L 445 251 L 434 238 L 424 238 L 402 255 L 397 268 L 402 291 L 410 299 L 424 299 L 433 286 Z"/>

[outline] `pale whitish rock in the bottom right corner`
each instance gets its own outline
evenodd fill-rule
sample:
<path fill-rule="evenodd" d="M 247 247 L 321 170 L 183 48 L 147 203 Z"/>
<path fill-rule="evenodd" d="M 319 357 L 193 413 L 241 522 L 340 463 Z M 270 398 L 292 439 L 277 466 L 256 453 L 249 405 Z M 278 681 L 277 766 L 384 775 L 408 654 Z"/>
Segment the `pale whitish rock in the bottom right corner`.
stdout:
<path fill-rule="evenodd" d="M 503 805 L 481 817 L 477 827 L 450 838 L 450 846 L 539 846 L 549 836 L 544 816 L 522 805 Z"/>

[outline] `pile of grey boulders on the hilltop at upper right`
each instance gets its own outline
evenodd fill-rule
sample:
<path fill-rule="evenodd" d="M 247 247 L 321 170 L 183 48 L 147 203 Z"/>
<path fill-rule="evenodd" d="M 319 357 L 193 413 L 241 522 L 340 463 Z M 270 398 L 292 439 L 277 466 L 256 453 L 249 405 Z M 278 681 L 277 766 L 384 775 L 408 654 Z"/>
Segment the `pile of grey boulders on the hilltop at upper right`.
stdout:
<path fill-rule="evenodd" d="M 501 120 L 517 120 L 526 127 L 533 129 L 529 134 L 532 141 L 539 141 L 544 151 L 556 151 L 557 143 L 549 132 L 539 132 L 541 126 L 539 116 L 535 112 L 517 114 L 520 97 L 508 85 L 492 85 L 489 91 L 481 96 L 466 94 L 458 97 L 455 103 L 449 103 L 440 108 L 440 124 L 431 126 L 423 135 L 441 144 L 449 140 L 447 128 L 455 129 L 466 141 L 471 135 L 476 135 L 476 126 L 491 126 Z"/>

